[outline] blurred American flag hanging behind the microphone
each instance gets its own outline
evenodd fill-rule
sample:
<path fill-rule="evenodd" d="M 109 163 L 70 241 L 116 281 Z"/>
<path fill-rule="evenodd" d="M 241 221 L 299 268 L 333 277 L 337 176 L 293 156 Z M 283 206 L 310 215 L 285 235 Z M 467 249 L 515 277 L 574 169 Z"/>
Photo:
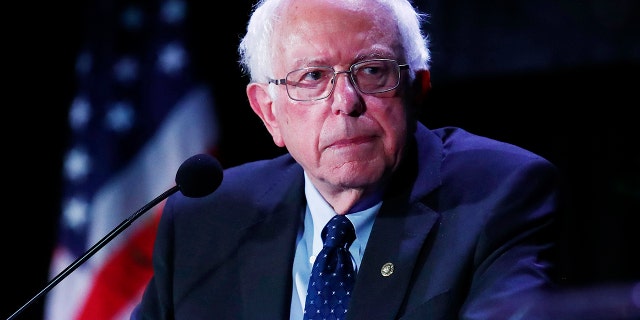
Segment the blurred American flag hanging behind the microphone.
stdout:
<path fill-rule="evenodd" d="M 191 73 L 186 0 L 93 0 L 87 8 L 51 278 L 173 187 L 184 160 L 215 155 L 218 143 L 210 90 Z M 55 286 L 44 318 L 128 319 L 152 275 L 162 204 Z"/>

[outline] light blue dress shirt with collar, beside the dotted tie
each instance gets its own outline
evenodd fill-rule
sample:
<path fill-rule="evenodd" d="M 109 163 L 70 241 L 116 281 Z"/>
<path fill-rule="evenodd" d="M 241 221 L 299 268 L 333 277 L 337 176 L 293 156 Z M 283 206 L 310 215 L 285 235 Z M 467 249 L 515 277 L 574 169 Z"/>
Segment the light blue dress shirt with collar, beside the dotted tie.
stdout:
<path fill-rule="evenodd" d="M 320 233 L 331 217 L 336 215 L 333 208 L 313 186 L 306 173 L 304 178 L 307 209 L 304 215 L 304 226 L 298 231 L 298 239 L 296 240 L 296 253 L 293 260 L 293 294 L 291 295 L 290 320 L 302 320 L 303 318 L 311 268 L 313 267 L 316 255 L 322 249 Z M 373 220 L 381 205 L 382 202 L 377 201 L 372 207 L 346 215 L 356 230 L 356 240 L 353 241 L 349 248 L 356 272 L 360 269 L 364 249 L 367 246 L 369 234 L 371 234 L 371 228 L 373 227 Z"/>

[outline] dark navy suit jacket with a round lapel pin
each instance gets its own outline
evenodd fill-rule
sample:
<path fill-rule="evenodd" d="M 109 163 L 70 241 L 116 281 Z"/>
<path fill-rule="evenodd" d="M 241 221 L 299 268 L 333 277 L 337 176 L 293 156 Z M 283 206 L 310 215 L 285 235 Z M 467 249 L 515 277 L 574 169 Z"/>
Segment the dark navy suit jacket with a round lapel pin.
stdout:
<path fill-rule="evenodd" d="M 459 128 L 420 124 L 410 145 L 374 222 L 349 319 L 529 319 L 550 282 L 556 168 Z M 302 168 L 283 155 L 227 169 L 204 198 L 170 197 L 133 318 L 289 319 L 303 186 Z"/>

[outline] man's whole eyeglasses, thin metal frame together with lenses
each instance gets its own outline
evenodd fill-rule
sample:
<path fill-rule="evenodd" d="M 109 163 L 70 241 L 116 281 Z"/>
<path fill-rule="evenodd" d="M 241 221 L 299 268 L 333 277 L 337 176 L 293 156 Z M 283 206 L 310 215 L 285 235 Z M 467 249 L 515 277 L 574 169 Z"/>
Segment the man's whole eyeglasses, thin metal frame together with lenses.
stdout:
<path fill-rule="evenodd" d="M 361 93 L 374 94 L 397 88 L 400 70 L 404 69 L 409 69 L 409 65 L 391 59 L 372 59 L 354 63 L 346 71 L 336 71 L 332 67 L 297 69 L 287 73 L 284 79 L 269 79 L 269 83 L 284 84 L 292 100 L 313 101 L 331 95 L 340 73 L 349 74 L 351 84 Z"/>

